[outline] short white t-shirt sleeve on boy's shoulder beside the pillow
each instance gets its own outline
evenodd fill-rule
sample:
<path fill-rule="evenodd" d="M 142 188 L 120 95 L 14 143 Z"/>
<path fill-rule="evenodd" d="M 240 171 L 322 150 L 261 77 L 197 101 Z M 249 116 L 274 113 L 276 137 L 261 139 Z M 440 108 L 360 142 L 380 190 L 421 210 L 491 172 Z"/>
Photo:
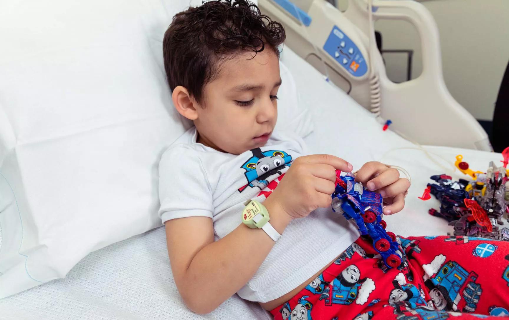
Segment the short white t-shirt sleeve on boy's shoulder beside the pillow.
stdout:
<path fill-rule="evenodd" d="M 168 148 L 161 156 L 159 216 L 163 224 L 190 216 L 212 218 L 212 191 L 198 153 L 180 145 Z"/>

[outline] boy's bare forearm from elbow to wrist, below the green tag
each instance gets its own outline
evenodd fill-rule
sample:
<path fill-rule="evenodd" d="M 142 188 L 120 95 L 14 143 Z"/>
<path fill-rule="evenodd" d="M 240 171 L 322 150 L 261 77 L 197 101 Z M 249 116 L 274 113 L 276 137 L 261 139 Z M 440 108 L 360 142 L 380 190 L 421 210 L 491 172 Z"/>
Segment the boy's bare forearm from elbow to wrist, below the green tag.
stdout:
<path fill-rule="evenodd" d="M 270 223 L 282 233 L 291 218 L 268 200 L 264 203 Z M 274 241 L 262 229 L 244 224 L 224 238 L 203 247 L 192 259 L 180 287 L 188 306 L 195 312 L 208 313 L 234 295 L 258 270 Z"/>

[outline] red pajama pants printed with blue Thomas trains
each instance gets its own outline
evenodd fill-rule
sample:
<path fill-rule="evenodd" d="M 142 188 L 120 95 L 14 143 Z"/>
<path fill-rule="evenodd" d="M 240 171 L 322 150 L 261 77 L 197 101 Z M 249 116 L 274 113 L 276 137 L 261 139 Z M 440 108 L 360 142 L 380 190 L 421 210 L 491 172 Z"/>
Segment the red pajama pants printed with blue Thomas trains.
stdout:
<path fill-rule="evenodd" d="M 400 270 L 357 239 L 288 302 L 275 320 L 477 319 L 509 315 L 509 242 L 398 237 Z M 509 318 L 509 317 L 507 317 Z"/>

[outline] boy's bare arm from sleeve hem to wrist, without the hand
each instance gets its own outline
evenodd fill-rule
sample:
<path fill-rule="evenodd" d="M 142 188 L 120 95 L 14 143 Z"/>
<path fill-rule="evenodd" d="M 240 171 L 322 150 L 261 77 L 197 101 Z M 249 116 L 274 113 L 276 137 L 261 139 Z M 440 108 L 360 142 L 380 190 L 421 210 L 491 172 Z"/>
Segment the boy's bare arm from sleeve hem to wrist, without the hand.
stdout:
<path fill-rule="evenodd" d="M 282 233 L 291 217 L 268 200 L 265 206 L 271 225 Z M 168 220 L 165 226 L 175 282 L 186 305 L 196 313 L 213 311 L 239 291 L 275 243 L 265 231 L 244 224 L 214 242 L 209 217 Z"/>

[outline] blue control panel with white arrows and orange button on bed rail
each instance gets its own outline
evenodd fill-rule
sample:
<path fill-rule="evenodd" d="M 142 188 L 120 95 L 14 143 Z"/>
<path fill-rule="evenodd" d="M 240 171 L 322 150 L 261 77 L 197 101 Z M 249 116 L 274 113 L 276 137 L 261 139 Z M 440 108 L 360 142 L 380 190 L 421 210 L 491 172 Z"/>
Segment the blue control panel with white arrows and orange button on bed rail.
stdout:
<path fill-rule="evenodd" d="M 330 31 L 323 49 L 353 76 L 360 77 L 367 72 L 366 60 L 359 48 L 337 26 Z"/>

